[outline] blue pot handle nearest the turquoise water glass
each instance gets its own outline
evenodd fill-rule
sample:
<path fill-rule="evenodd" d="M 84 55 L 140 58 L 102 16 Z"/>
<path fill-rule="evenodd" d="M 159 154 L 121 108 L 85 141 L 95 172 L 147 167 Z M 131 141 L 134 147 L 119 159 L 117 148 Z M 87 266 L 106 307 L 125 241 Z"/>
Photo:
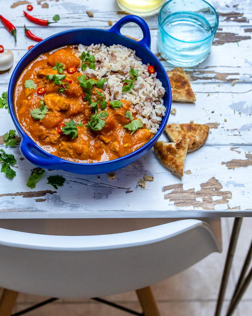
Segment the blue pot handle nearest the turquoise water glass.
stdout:
<path fill-rule="evenodd" d="M 137 1 L 137 0 L 136 0 Z M 150 33 L 150 29 L 148 24 L 145 22 L 144 19 L 138 17 L 137 15 L 127 15 L 123 18 L 121 18 L 119 21 L 117 21 L 115 23 L 115 25 L 113 25 L 109 31 L 110 32 L 114 32 L 117 34 L 120 34 L 120 29 L 123 25 L 130 23 L 130 22 L 134 22 L 136 23 L 141 30 L 143 31 L 143 39 L 141 39 L 139 41 L 139 44 L 141 44 L 142 46 L 144 46 L 145 48 L 150 49 L 151 47 L 151 33 Z"/>

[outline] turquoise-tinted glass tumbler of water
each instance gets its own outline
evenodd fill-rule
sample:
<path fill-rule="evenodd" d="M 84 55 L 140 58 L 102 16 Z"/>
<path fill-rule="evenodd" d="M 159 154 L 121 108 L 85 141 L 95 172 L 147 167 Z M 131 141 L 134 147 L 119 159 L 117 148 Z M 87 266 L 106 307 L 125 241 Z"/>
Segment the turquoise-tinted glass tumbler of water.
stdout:
<path fill-rule="evenodd" d="M 170 0 L 158 16 L 158 49 L 176 66 L 193 67 L 210 54 L 219 18 L 204 0 Z"/>

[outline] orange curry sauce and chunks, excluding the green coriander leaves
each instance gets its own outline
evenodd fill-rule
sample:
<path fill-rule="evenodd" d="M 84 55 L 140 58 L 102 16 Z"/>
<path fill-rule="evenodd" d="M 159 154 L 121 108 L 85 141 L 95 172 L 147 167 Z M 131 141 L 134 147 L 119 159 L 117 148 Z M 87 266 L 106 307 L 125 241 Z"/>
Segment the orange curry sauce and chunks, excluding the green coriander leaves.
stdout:
<path fill-rule="evenodd" d="M 64 64 L 62 74 L 65 74 L 70 82 L 72 80 L 69 89 L 62 93 L 58 93 L 59 85 L 46 79 L 47 75 L 57 74 L 57 70 L 52 70 L 55 62 Z M 90 104 L 82 98 L 84 90 L 78 80 L 82 74 L 78 70 L 73 74 L 68 72 L 72 67 L 78 69 L 80 63 L 81 60 L 74 54 L 74 48 L 68 46 L 40 55 L 25 68 L 17 81 L 14 101 L 19 123 L 29 137 L 45 151 L 75 162 L 116 159 L 146 144 L 153 136 L 148 129 L 140 128 L 131 134 L 131 131 L 123 127 L 131 122 L 131 119 L 125 117 L 125 112 L 131 109 L 131 104 L 125 100 L 120 100 L 122 107 L 118 109 L 107 104 L 105 111 L 108 116 L 103 119 L 105 126 L 101 130 L 93 131 L 86 126 L 94 112 Z M 28 79 L 35 82 L 36 88 L 24 86 Z M 44 88 L 45 91 L 39 88 Z M 99 100 L 97 90 L 103 92 L 101 88 L 93 86 L 92 101 Z M 39 94 L 41 92 L 44 93 Z M 40 101 L 44 102 L 49 113 L 41 120 L 36 120 L 30 111 L 40 108 Z M 97 113 L 99 112 L 100 106 Z M 133 119 L 136 119 L 135 113 L 132 115 Z M 60 124 L 70 120 L 78 123 L 78 137 L 75 139 L 60 133 Z"/>

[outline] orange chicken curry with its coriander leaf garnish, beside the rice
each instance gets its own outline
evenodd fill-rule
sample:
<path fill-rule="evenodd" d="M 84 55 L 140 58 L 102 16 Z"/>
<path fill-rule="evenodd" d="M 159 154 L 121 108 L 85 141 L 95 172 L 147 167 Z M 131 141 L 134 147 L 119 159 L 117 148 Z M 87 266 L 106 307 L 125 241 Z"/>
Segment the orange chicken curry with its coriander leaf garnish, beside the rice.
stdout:
<path fill-rule="evenodd" d="M 89 54 L 89 53 L 87 53 Z M 90 56 L 90 55 L 88 55 Z M 15 110 L 26 133 L 45 151 L 75 162 L 100 162 L 134 152 L 151 138 L 126 100 L 106 101 L 106 77 L 71 46 L 40 55 L 16 84 Z"/>

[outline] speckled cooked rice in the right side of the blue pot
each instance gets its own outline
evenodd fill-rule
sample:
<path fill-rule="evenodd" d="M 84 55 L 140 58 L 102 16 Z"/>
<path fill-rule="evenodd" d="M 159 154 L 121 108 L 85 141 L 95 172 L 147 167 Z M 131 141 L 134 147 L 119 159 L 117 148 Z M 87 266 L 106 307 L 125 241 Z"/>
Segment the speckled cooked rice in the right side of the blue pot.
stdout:
<path fill-rule="evenodd" d="M 107 78 L 107 85 L 104 84 L 104 95 L 106 101 L 128 100 L 132 104 L 132 112 L 137 113 L 152 133 L 156 133 L 165 114 L 166 108 L 163 105 L 165 89 L 157 73 L 149 74 L 141 59 L 135 55 L 135 51 L 121 45 L 105 46 L 104 44 L 91 44 L 90 46 L 79 45 L 76 55 L 90 51 L 95 56 L 95 70 L 87 67 L 85 71 L 89 78 L 93 76 L 100 79 Z M 138 69 L 140 76 L 134 81 L 134 88 L 129 93 L 122 92 L 124 79 L 130 79 L 130 68 Z"/>

